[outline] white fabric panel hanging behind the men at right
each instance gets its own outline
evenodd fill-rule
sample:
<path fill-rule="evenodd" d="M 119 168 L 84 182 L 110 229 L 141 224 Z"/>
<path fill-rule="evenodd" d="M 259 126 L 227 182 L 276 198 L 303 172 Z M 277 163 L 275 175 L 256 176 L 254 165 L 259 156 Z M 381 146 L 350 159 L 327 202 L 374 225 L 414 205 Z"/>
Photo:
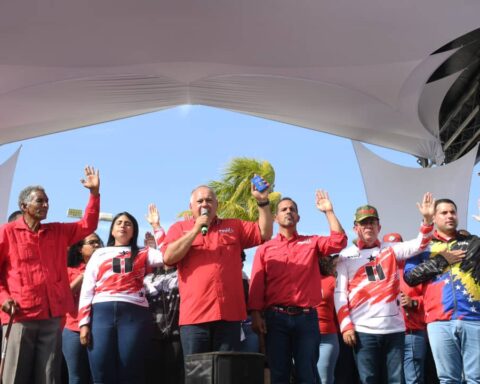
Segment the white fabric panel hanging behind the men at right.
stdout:
<path fill-rule="evenodd" d="M 353 146 L 368 202 L 378 209 L 383 234 L 398 232 L 405 240 L 413 239 L 421 222 L 416 203 L 425 192 L 432 192 L 437 199 L 453 200 L 459 228 L 467 228 L 468 194 L 478 145 L 461 159 L 432 169 L 403 167 L 383 160 L 361 143 Z"/>

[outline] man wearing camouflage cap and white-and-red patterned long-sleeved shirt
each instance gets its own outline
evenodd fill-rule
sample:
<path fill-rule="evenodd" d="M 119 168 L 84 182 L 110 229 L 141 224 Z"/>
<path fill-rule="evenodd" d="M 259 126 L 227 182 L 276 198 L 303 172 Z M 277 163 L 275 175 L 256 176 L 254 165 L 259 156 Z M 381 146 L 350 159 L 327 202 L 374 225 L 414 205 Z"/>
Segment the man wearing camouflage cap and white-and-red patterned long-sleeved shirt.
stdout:
<path fill-rule="evenodd" d="M 424 249 L 433 230 L 434 199 L 423 196 L 418 209 L 423 216 L 416 239 L 381 243 L 378 212 L 371 205 L 357 209 L 356 244 L 345 248 L 337 264 L 335 308 L 345 343 L 354 348 L 362 383 L 382 383 L 380 367 L 387 367 L 387 382 L 402 382 L 405 323 L 398 296 L 397 261 Z"/>

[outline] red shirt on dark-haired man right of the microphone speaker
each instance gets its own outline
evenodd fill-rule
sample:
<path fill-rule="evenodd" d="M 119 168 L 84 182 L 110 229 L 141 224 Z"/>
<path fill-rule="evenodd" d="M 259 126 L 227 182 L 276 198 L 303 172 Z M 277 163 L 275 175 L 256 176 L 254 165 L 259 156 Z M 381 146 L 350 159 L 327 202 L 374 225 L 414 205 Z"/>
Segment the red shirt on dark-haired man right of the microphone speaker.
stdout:
<path fill-rule="evenodd" d="M 346 244 L 347 236 L 334 231 L 330 236 L 296 234 L 290 240 L 278 234 L 263 244 L 253 262 L 249 309 L 318 306 L 322 299 L 318 257 L 340 252 Z"/>

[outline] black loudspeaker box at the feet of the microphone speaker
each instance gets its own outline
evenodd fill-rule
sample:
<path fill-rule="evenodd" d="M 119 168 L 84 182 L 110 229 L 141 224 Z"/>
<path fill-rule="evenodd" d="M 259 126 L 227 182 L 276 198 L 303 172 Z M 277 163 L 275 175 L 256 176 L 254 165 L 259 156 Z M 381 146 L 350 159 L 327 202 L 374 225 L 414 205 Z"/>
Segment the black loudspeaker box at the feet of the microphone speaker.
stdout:
<path fill-rule="evenodd" d="M 209 352 L 185 357 L 185 384 L 263 384 L 261 353 Z"/>

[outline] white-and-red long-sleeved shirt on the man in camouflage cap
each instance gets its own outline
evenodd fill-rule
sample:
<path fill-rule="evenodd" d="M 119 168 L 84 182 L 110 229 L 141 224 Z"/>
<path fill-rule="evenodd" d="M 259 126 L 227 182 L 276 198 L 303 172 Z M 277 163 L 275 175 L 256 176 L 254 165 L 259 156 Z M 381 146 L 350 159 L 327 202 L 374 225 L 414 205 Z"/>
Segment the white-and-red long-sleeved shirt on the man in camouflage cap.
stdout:
<path fill-rule="evenodd" d="M 433 225 L 422 225 L 414 240 L 369 249 L 352 245 L 340 253 L 334 297 L 342 333 L 351 329 L 376 334 L 405 331 L 398 302 L 397 260 L 425 249 L 432 230 Z"/>

